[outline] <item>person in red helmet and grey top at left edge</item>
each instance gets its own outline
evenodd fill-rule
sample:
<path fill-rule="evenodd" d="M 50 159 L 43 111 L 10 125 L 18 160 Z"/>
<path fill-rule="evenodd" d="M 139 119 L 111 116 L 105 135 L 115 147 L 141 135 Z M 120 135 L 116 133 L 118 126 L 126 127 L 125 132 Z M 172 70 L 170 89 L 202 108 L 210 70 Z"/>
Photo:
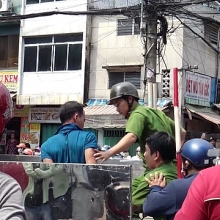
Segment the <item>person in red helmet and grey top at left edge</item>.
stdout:
<path fill-rule="evenodd" d="M 12 118 L 13 103 L 0 82 L 0 140 L 5 125 Z M 26 220 L 21 187 L 11 176 L 0 172 L 0 219 Z"/>

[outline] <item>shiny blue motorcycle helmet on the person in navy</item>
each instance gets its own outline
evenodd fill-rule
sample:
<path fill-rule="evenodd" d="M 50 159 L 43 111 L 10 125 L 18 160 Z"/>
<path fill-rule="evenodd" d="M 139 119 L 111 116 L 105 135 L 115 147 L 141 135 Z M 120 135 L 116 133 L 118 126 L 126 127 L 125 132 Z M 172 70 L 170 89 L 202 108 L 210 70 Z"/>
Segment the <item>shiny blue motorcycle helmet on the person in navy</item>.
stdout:
<path fill-rule="evenodd" d="M 214 147 L 207 141 L 194 138 L 187 141 L 180 150 L 180 155 L 190 161 L 196 167 L 209 167 L 212 164 L 212 159 L 208 157 L 208 150 Z"/>

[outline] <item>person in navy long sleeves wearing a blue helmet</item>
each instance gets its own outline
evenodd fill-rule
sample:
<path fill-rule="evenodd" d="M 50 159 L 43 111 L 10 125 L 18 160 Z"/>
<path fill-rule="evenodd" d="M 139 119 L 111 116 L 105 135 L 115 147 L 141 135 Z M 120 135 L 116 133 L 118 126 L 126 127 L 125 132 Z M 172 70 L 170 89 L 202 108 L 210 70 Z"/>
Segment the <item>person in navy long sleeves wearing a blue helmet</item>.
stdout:
<path fill-rule="evenodd" d="M 173 220 L 198 172 L 213 165 L 213 158 L 207 156 L 208 150 L 213 148 L 205 140 L 191 139 L 179 152 L 185 173 L 183 179 L 173 180 L 166 187 L 166 180 L 162 173 L 155 173 L 150 179 L 146 179 L 150 186 L 150 194 L 143 204 L 144 215 L 154 218 L 166 216 L 166 219 Z"/>

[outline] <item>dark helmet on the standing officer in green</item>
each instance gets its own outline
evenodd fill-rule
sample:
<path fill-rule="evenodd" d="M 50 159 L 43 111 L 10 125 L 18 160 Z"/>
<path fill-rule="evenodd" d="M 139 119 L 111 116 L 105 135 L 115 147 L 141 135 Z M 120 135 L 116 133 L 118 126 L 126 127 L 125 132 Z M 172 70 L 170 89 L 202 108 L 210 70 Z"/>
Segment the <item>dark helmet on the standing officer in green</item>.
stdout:
<path fill-rule="evenodd" d="M 112 86 L 108 104 L 111 105 L 113 100 L 121 98 L 122 96 L 133 96 L 139 99 L 137 88 L 132 83 L 121 82 Z"/>

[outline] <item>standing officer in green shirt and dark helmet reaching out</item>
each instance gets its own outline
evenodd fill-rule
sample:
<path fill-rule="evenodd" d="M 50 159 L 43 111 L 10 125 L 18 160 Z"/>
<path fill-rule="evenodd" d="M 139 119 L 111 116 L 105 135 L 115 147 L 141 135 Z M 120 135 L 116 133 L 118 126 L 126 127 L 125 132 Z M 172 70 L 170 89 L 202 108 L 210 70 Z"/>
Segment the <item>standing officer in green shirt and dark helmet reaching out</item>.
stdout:
<path fill-rule="evenodd" d="M 126 135 L 111 149 L 105 152 L 97 152 L 96 160 L 102 162 L 113 155 L 123 152 L 134 143 L 139 143 L 141 153 L 145 151 L 145 140 L 157 131 L 164 131 L 174 137 L 175 124 L 162 111 L 145 107 L 138 103 L 137 88 L 129 82 L 115 84 L 111 88 L 109 104 L 117 108 L 119 114 L 128 119 Z M 181 128 L 181 141 L 185 140 L 185 130 Z"/>

